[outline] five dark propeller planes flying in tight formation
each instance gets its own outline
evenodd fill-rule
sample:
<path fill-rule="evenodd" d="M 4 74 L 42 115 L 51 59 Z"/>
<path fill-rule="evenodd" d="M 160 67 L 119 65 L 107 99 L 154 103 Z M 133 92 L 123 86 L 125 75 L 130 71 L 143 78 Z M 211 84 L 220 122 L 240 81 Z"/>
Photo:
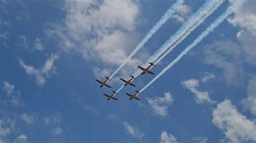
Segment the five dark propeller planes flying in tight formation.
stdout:
<path fill-rule="evenodd" d="M 154 75 L 154 73 L 153 73 L 152 71 L 150 71 L 150 69 L 151 69 L 153 66 L 156 66 L 156 65 L 154 65 L 153 62 L 149 62 L 149 63 L 150 63 L 150 65 L 147 66 L 147 67 L 145 67 L 145 68 L 138 66 L 138 68 L 142 70 L 142 75 L 144 75 L 145 73 Z M 135 80 L 136 77 L 134 77 L 134 76 L 132 76 L 132 75 L 130 75 L 130 76 L 131 76 L 131 78 L 130 78 L 129 80 L 124 80 L 123 78 L 120 78 L 120 80 L 125 83 L 125 84 L 124 84 L 124 87 L 125 87 L 126 85 L 131 85 L 131 86 L 133 86 L 133 87 L 136 87 L 136 85 L 132 83 L 132 80 Z M 111 79 L 110 79 L 109 77 L 105 77 L 105 78 L 106 78 L 106 80 L 105 80 L 104 82 L 99 81 L 99 80 L 97 80 L 97 79 L 96 79 L 96 81 L 97 81 L 98 83 L 100 83 L 100 88 L 102 88 L 102 87 L 111 88 L 111 86 L 107 84 L 107 82 L 111 81 Z M 118 94 L 118 93 L 116 92 L 116 90 L 114 90 L 114 91 L 112 91 L 112 92 L 113 92 L 113 93 L 112 93 L 111 95 L 107 95 L 107 94 L 103 94 L 103 95 L 107 97 L 107 100 L 108 100 L 108 101 L 109 101 L 110 99 L 113 99 L 113 100 L 116 100 L 116 101 L 117 101 L 118 99 L 115 98 L 114 95 L 116 95 L 116 94 Z M 128 95 L 128 96 L 130 97 L 130 98 L 129 98 L 130 100 L 131 100 L 131 99 L 140 100 L 140 99 L 137 97 L 137 96 L 140 94 L 139 90 L 136 90 L 135 92 L 136 92 L 136 93 L 135 93 L 134 95 L 131 95 L 131 94 L 129 94 L 129 93 L 126 93 L 126 95 Z"/>

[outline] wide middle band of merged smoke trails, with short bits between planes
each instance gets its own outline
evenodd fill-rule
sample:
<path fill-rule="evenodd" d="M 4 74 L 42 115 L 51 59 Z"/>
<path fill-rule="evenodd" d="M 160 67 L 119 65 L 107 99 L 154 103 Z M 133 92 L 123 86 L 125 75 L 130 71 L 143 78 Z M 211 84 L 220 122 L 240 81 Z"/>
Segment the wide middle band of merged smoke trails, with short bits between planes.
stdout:
<path fill-rule="evenodd" d="M 173 45 L 168 53 L 172 51 L 173 48 L 175 48 L 181 41 L 183 41 L 195 28 L 197 28 L 201 23 L 204 22 L 204 20 L 210 16 L 219 6 L 222 4 L 224 0 L 212 0 L 212 1 L 206 1 L 206 3 L 201 6 L 201 8 L 194 13 L 187 21 L 179 28 L 179 30 L 173 34 L 165 43 L 163 46 L 161 46 L 157 52 L 152 55 L 149 60 L 144 64 L 144 67 L 152 61 L 155 61 L 163 54 L 171 45 L 173 45 L 175 42 L 176 44 Z M 177 42 L 178 40 L 178 42 Z M 165 53 L 164 56 L 166 56 L 168 53 Z M 164 58 L 164 56 L 160 57 L 160 60 Z M 160 61 L 158 60 L 157 63 Z M 156 64 L 156 63 L 155 63 Z M 140 69 L 136 71 L 134 74 L 134 77 L 139 76 Z M 122 90 L 124 86 L 120 87 L 117 92 Z"/>

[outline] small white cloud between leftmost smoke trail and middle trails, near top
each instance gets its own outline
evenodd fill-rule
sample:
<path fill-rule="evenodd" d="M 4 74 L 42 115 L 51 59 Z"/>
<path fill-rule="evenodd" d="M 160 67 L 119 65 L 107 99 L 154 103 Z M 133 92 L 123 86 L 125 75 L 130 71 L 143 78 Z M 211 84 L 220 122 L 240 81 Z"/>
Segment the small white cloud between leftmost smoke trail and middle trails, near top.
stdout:
<path fill-rule="evenodd" d="M 188 5 L 180 5 L 176 15 L 173 15 L 172 18 L 177 22 L 183 23 L 190 15 L 190 7 Z"/>

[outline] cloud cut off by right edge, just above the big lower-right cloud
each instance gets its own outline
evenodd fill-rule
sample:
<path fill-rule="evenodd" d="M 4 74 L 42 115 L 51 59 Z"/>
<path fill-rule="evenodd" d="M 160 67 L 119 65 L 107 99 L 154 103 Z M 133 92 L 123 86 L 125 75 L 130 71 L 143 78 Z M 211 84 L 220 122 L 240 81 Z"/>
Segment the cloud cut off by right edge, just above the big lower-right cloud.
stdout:
<path fill-rule="evenodd" d="M 256 76 L 254 75 L 248 83 L 247 95 L 248 97 L 242 99 L 242 105 L 245 109 L 251 111 L 253 115 L 256 115 Z"/>

